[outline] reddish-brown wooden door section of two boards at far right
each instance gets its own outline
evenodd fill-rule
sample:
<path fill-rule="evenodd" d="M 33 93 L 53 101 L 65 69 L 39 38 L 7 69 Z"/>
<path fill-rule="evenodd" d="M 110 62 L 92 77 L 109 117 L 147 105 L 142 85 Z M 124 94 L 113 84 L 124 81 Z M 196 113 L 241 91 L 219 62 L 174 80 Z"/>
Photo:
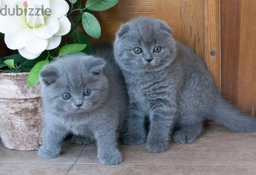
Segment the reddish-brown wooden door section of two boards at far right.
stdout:
<path fill-rule="evenodd" d="M 256 1 L 221 0 L 222 93 L 256 115 Z"/>

